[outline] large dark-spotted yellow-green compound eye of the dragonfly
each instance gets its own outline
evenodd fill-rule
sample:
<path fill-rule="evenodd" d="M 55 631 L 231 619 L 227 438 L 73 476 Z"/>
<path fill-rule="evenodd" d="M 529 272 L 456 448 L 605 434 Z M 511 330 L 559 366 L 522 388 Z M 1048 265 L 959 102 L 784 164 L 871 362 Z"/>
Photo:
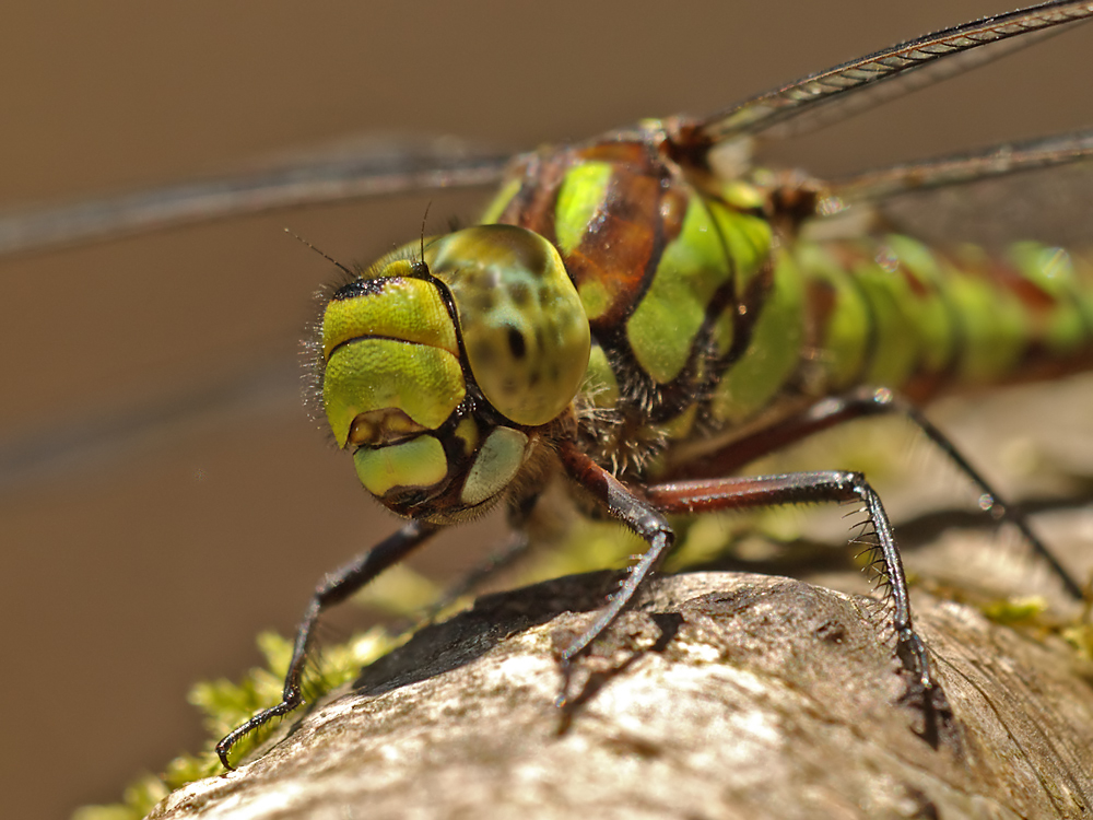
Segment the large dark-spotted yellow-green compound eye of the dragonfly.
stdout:
<path fill-rule="evenodd" d="M 451 291 L 490 403 L 517 424 L 557 418 L 584 379 L 590 331 L 554 246 L 521 227 L 480 225 L 427 246 L 425 262 Z"/>

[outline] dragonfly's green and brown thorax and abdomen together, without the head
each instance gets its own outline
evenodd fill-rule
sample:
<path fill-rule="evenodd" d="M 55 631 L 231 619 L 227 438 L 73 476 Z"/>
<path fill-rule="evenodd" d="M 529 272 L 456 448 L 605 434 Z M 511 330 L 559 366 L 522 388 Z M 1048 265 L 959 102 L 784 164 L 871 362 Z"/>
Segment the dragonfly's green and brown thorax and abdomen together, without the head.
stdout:
<path fill-rule="evenodd" d="M 526 155 L 486 216 L 560 248 L 611 385 L 597 406 L 650 424 L 697 403 L 707 429 L 730 425 L 859 384 L 925 396 L 1093 348 L 1090 268 L 1063 251 L 776 244 L 757 211 L 700 194 L 642 140 Z"/>

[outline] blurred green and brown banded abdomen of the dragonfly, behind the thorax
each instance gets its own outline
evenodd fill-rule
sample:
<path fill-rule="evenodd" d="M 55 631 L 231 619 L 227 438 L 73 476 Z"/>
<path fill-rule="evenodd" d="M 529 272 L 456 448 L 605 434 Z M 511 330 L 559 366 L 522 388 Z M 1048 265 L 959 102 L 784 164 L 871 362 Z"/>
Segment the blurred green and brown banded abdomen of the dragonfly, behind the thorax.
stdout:
<path fill-rule="evenodd" d="M 991 257 L 906 236 L 794 248 L 810 391 L 883 385 L 916 398 L 1093 364 L 1093 268 L 1032 242 Z"/>

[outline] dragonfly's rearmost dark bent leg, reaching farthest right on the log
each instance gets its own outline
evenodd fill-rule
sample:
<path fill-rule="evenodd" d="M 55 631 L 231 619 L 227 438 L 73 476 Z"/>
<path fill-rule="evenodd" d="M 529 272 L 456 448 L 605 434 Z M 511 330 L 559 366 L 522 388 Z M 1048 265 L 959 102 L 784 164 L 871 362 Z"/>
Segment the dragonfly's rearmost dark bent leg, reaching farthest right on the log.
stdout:
<path fill-rule="evenodd" d="M 756 431 L 744 438 L 732 442 L 722 450 L 706 456 L 697 467 L 689 465 L 684 469 L 687 477 L 724 476 L 760 456 L 807 438 L 813 433 L 855 419 L 888 413 L 903 415 L 921 430 L 979 491 L 980 508 L 994 516 L 996 520 L 1008 522 L 1016 527 L 1033 551 L 1051 567 L 1067 593 L 1078 600 L 1082 599 L 1081 585 L 1059 563 L 1059 560 L 1044 542 L 1033 534 L 1025 514 L 1019 507 L 1003 501 L 948 436 L 938 430 L 917 407 L 885 388 L 861 388 L 843 396 L 822 399 L 789 419 Z"/>

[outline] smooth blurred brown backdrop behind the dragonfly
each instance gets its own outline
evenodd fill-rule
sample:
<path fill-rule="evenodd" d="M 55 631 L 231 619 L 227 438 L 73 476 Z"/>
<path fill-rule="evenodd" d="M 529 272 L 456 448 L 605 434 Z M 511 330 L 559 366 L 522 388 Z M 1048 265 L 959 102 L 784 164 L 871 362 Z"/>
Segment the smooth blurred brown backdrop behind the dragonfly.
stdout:
<path fill-rule="evenodd" d="M 129 2 L 0 11 L 0 208 L 154 185 L 354 132 L 521 149 L 704 113 L 999 0 L 878 3 Z M 771 155 L 820 173 L 1093 125 L 1093 30 L 1068 34 Z M 0 266 L 0 442 L 292 360 L 331 268 L 472 219 L 436 195 L 191 227 Z M 115 448 L 116 449 L 116 448 Z M 257 660 L 320 575 L 395 522 L 295 397 L 155 427 L 132 452 L 0 476 L 7 817 L 116 799 L 201 737 L 185 693 Z M 35 469 L 26 467 L 36 465 Z M 472 529 L 416 565 L 458 571 Z M 352 617 L 344 617 L 353 622 Z M 360 622 L 360 618 L 356 619 Z"/>

